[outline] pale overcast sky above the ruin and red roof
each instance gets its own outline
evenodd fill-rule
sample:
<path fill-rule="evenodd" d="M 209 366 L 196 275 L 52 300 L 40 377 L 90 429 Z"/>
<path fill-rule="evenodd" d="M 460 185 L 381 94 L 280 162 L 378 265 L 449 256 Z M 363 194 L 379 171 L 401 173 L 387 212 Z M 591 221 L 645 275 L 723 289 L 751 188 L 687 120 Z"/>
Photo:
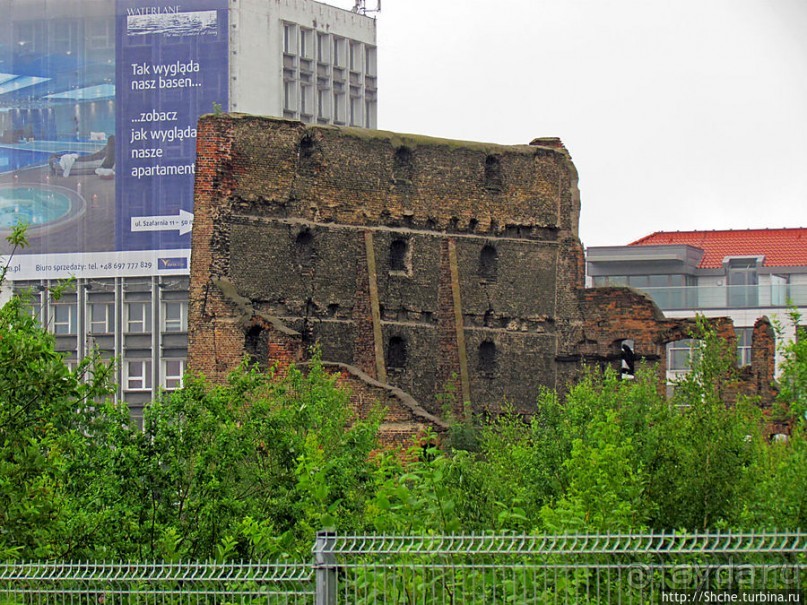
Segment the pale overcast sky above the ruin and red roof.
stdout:
<path fill-rule="evenodd" d="M 382 0 L 377 18 L 379 128 L 559 136 L 586 246 L 807 226 L 807 0 Z"/>

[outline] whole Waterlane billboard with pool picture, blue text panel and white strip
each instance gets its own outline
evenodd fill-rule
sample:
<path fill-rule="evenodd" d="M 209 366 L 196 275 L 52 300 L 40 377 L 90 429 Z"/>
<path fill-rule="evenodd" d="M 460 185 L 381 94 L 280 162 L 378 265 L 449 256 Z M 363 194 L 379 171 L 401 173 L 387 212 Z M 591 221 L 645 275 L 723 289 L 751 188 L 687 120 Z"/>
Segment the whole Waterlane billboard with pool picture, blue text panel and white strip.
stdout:
<path fill-rule="evenodd" d="M 226 0 L 11 7 L 0 236 L 24 222 L 31 246 L 10 277 L 187 273 L 196 122 L 228 104 Z"/>

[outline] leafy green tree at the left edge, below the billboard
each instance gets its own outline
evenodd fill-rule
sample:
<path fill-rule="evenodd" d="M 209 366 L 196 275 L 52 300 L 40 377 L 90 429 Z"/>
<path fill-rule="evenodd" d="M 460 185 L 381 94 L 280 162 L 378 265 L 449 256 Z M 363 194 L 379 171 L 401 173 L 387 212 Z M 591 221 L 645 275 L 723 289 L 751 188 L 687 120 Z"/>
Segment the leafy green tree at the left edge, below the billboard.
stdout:
<path fill-rule="evenodd" d="M 24 228 L 8 240 L 14 250 L 25 246 Z M 110 371 L 94 356 L 70 371 L 24 295 L 0 309 L 0 553 L 6 557 L 68 557 L 91 541 L 100 519 L 91 506 L 97 477 L 86 461 L 103 440 L 99 409 L 110 392 Z"/>

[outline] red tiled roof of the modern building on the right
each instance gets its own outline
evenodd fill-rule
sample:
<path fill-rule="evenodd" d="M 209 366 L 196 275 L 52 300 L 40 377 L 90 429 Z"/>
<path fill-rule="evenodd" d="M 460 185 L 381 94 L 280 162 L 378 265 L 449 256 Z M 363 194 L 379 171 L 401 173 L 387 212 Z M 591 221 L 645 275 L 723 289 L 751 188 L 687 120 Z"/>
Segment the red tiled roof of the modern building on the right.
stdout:
<path fill-rule="evenodd" d="M 744 231 L 657 231 L 629 246 L 687 244 L 704 251 L 699 265 L 715 269 L 727 256 L 764 255 L 765 267 L 807 266 L 807 228 Z"/>

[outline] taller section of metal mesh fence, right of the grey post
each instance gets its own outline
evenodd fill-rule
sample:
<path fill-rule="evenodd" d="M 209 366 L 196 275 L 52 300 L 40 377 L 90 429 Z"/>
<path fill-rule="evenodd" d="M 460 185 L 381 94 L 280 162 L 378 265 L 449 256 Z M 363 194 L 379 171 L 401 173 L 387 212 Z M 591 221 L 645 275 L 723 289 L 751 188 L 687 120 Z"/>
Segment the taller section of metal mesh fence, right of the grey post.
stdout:
<path fill-rule="evenodd" d="M 803 591 L 806 547 L 800 533 L 321 535 L 315 553 L 335 570 L 328 603 L 661 603 Z"/>

